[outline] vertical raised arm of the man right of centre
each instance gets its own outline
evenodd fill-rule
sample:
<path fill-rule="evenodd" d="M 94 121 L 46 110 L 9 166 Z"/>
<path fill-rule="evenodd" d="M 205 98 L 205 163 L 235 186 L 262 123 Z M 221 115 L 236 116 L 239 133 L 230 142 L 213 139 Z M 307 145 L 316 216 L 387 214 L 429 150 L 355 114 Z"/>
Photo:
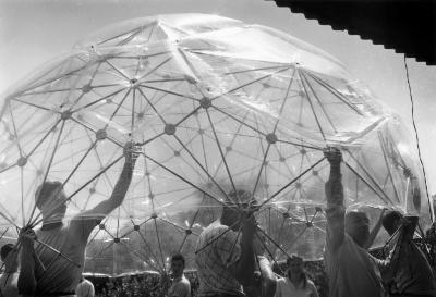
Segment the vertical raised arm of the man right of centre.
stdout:
<path fill-rule="evenodd" d="M 343 207 L 343 186 L 341 181 L 340 165 L 342 153 L 337 148 L 328 148 L 324 151 L 324 156 L 330 163 L 330 175 L 326 183 L 327 198 L 327 236 L 326 244 L 330 251 L 337 250 L 344 238 L 344 214 Z"/>

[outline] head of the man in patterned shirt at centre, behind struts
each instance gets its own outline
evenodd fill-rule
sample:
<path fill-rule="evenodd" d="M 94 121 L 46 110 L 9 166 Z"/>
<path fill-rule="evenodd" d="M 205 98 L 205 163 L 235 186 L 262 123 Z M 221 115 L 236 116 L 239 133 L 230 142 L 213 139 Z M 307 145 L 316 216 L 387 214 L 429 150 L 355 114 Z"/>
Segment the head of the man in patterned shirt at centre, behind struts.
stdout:
<path fill-rule="evenodd" d="M 255 203 L 253 195 L 243 189 L 237 189 L 229 193 L 222 208 L 221 223 L 228 225 L 233 231 L 241 227 L 241 214 Z"/>

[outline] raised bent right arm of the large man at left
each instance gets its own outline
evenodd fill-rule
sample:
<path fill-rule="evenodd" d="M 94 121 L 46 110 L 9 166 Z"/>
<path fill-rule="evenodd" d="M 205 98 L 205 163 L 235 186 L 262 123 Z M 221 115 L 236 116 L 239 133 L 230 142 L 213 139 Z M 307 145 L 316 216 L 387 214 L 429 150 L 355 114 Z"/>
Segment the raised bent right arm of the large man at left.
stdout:
<path fill-rule="evenodd" d="M 112 210 L 121 206 L 132 181 L 133 169 L 135 166 L 137 156 L 137 147 L 135 147 L 133 143 L 128 143 L 124 147 L 124 166 L 121 171 L 120 176 L 118 177 L 112 195 L 109 199 L 101 201 L 93 209 L 84 211 L 76 215 L 72 220 L 72 227 L 83 228 L 83 224 L 85 224 L 86 226 L 89 225 L 89 227 L 87 227 L 86 230 L 80 230 L 81 233 L 89 233 L 106 215 L 108 215 Z M 88 224 L 89 221 L 92 221 L 92 224 Z"/>

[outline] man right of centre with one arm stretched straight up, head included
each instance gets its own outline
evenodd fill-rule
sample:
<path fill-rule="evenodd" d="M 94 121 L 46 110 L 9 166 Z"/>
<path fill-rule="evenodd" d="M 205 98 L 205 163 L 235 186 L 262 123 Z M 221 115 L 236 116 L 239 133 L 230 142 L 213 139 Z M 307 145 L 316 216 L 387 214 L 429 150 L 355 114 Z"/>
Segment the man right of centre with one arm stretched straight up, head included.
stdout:
<path fill-rule="evenodd" d="M 329 296 L 385 296 L 378 265 L 367 252 L 370 220 L 364 212 L 346 213 L 341 182 L 342 153 L 337 148 L 324 151 L 330 164 L 326 183 L 327 233 L 324 260 L 329 277 Z"/>

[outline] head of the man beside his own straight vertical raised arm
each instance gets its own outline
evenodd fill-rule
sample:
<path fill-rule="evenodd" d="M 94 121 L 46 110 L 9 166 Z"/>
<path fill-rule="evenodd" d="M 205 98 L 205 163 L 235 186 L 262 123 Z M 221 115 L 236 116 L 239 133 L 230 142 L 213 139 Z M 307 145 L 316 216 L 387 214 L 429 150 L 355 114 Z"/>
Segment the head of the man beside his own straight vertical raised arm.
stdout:
<path fill-rule="evenodd" d="M 346 233 L 360 247 L 364 247 L 370 239 L 370 219 L 366 213 L 360 211 L 347 212 Z"/>

